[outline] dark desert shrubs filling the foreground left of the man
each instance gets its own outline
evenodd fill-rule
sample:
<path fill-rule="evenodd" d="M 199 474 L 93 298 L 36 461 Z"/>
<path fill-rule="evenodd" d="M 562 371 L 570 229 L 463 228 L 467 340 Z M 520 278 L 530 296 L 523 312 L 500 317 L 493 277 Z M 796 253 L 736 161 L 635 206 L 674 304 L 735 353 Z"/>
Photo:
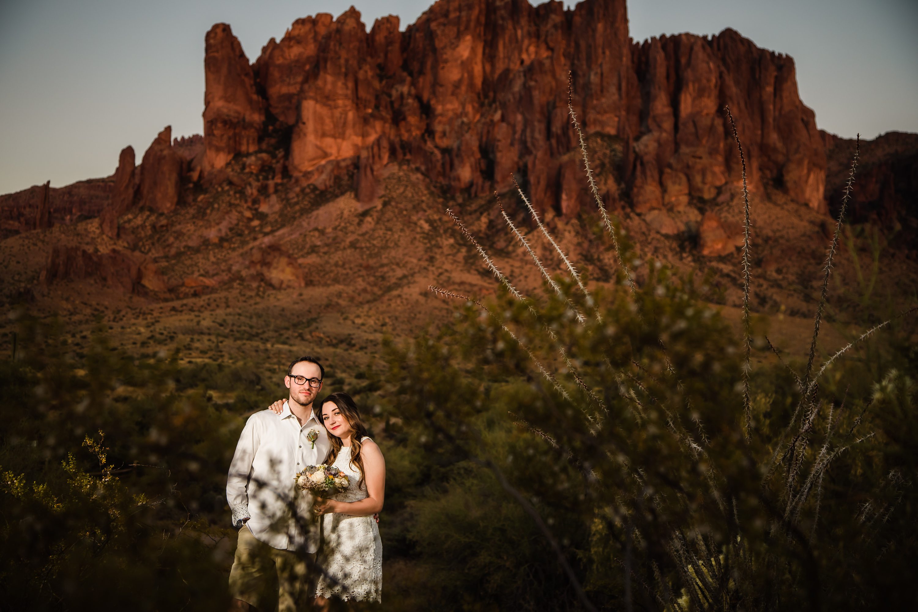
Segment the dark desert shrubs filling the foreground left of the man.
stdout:
<path fill-rule="evenodd" d="M 177 355 L 135 361 L 99 328 L 79 359 L 55 320 L 20 323 L 22 351 L 0 362 L 5 606 L 225 609 L 241 406 Z"/>

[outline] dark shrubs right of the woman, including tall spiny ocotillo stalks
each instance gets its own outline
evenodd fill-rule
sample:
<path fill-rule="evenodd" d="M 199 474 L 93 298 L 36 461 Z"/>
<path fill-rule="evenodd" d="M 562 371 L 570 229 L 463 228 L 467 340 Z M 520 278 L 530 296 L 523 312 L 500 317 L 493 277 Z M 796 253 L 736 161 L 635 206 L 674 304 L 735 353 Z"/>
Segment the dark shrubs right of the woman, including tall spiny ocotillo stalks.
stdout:
<path fill-rule="evenodd" d="M 845 198 L 855 168 L 856 158 Z M 628 245 L 593 193 L 619 261 L 605 291 L 587 286 L 521 190 L 569 280 L 545 271 L 504 213 L 543 273 L 538 300 L 447 211 L 500 293 L 485 305 L 431 286 L 465 303 L 456 320 L 389 346 L 379 401 L 390 444 L 420 451 L 430 473 L 427 487 L 401 492 L 414 521 L 403 556 L 415 567 L 395 567 L 434 584 L 421 594 L 397 589 L 392 609 L 407 606 L 399 596 L 416 609 L 455 610 L 503 609 L 508 597 L 526 609 L 588 610 L 911 602 L 913 324 L 897 317 L 817 359 L 844 209 L 823 264 L 809 359 L 753 370 L 748 198 L 736 339 L 691 277 L 651 262 L 638 288 Z M 533 563 L 541 567 L 527 575 Z M 553 583 L 558 576 L 566 588 Z"/>

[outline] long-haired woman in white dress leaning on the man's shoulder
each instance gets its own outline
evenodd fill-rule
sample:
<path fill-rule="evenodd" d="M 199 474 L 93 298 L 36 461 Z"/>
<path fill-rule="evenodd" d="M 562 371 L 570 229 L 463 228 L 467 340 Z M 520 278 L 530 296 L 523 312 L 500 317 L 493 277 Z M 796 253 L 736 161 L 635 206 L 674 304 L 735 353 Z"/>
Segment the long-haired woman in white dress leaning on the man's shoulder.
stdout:
<path fill-rule="evenodd" d="M 276 412 L 275 406 L 272 409 Z M 383 509 L 386 462 L 379 447 L 366 435 L 350 395 L 333 393 L 326 397 L 320 420 L 331 441 L 325 462 L 346 473 L 350 483 L 328 499 L 317 499 L 314 507 L 319 517 L 330 515 L 321 521 L 324 543 L 319 551 L 322 575 L 316 587 L 316 605 L 328 610 L 332 596 L 345 601 L 379 602 L 383 543 L 373 515 Z"/>

